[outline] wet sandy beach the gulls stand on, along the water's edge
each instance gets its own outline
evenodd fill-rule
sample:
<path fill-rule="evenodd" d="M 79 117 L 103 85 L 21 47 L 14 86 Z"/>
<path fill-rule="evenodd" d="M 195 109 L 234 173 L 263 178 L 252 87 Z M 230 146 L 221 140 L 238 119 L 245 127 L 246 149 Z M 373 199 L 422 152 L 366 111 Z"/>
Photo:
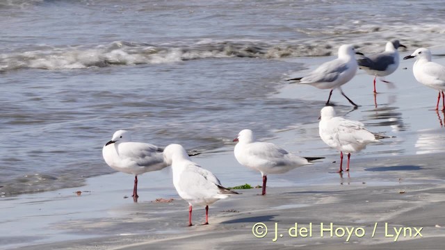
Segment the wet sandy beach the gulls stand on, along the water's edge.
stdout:
<path fill-rule="evenodd" d="M 401 57 L 412 51 L 401 51 Z M 316 67 L 328 59 L 287 60 L 309 60 Z M 444 58 L 433 60 L 445 65 Z M 437 92 L 415 81 L 413 63 L 402 61 L 387 76 L 396 88 L 378 82 L 377 107 L 373 77 L 361 70 L 343 85 L 361 105 L 357 110 L 348 113 L 349 103 L 334 91 L 339 115 L 394 136 L 353 154 L 350 173 L 336 173 L 338 152 L 316 140 L 314 114 L 310 124 L 296 121 L 298 125 L 261 140 L 325 159 L 268 176 L 266 196 L 259 195 L 259 189 L 240 190 L 216 202 L 210 206 L 207 226 L 199 225 L 204 222 L 203 208 L 193 208 L 197 226 L 186 226 L 188 203 L 175 192 L 170 169 L 140 176 L 137 203 L 128 198 L 133 176 L 115 173 L 89 178 L 79 188 L 3 199 L 0 249 L 443 249 L 444 113 L 432 110 Z M 286 85 L 270 98 L 316 99 L 322 108 L 327 94 L 310 86 Z M 227 187 L 260 184 L 258 172 L 236 162 L 233 147 L 227 144 L 193 160 Z M 380 151 L 386 153 L 375 154 Z M 154 202 L 158 198 L 173 200 Z"/>

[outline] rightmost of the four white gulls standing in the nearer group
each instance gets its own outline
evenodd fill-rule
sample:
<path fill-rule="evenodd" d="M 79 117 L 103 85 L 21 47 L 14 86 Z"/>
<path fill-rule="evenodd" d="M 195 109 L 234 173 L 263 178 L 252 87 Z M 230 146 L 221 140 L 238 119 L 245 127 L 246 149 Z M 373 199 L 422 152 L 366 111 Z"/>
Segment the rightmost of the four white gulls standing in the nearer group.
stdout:
<path fill-rule="evenodd" d="M 375 134 L 366 130 L 362 122 L 335 117 L 335 110 L 331 106 L 321 109 L 318 133 L 325 144 L 340 151 L 339 173 L 343 171 L 341 168 L 343 152 L 348 153 L 348 168 L 346 171 L 349 171 L 350 153 L 365 149 L 370 142 L 378 142 L 375 139 Z M 378 137 L 383 138 L 380 135 Z"/>

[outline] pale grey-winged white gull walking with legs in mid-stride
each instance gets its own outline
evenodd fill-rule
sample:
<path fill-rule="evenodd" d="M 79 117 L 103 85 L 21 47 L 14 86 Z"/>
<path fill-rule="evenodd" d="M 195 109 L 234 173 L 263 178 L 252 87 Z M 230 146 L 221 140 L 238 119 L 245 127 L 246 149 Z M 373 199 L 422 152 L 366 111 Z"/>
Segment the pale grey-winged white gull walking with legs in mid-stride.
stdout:
<path fill-rule="evenodd" d="M 332 90 L 338 88 L 343 97 L 346 94 L 341 90 L 341 85 L 348 83 L 350 79 L 355 76 L 357 72 L 357 60 L 355 60 L 355 49 L 351 44 L 343 44 L 339 47 L 339 55 L 335 60 L 323 63 L 313 72 L 305 77 L 291 78 L 287 81 L 298 81 L 300 84 L 309 84 L 319 89 L 330 89 L 329 98 L 326 101 L 326 106 L 329 105 Z M 357 52 L 360 55 L 362 53 Z M 346 97 L 353 106 L 358 107 L 351 99 Z"/>

